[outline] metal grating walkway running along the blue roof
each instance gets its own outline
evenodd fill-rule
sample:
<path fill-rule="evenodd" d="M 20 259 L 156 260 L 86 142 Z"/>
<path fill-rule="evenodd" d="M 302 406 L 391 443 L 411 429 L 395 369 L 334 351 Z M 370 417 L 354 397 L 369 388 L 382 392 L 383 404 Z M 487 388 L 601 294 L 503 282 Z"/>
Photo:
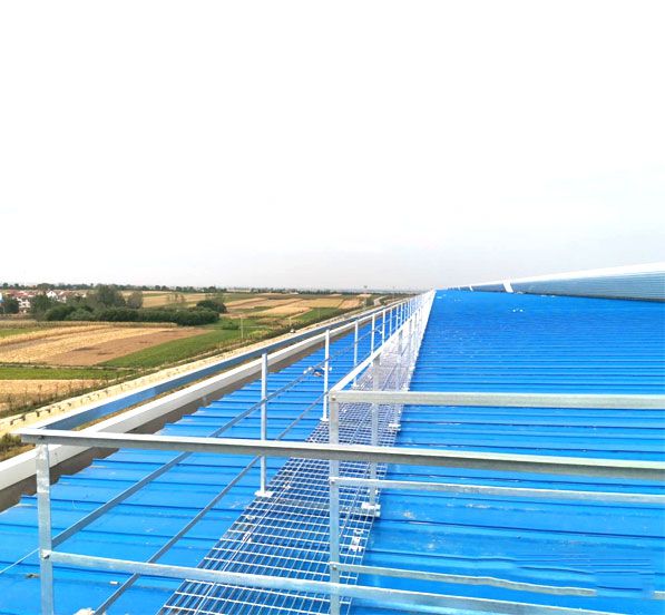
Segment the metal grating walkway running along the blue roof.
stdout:
<path fill-rule="evenodd" d="M 415 345 L 415 344 L 414 344 Z M 387 342 L 381 363 L 371 365 L 355 382 L 356 389 L 393 389 L 408 382 L 417 348 L 402 345 L 394 336 Z M 401 407 L 374 407 L 378 417 L 375 442 L 393 446 Z M 327 421 L 321 421 L 309 442 L 327 442 Z M 345 404 L 340 409 L 341 443 L 372 442 L 372 407 Z M 340 476 L 383 478 L 387 466 L 340 462 Z M 199 567 L 233 573 L 278 575 L 309 580 L 330 580 L 330 463 L 327 460 L 290 459 L 268 484 L 270 497 L 257 496 L 201 562 Z M 364 487 L 340 489 L 340 562 L 361 564 L 373 512 Z M 342 573 L 341 583 L 354 583 L 358 575 Z M 348 612 L 351 601 L 341 599 Z M 244 615 L 330 613 L 329 596 L 295 590 L 256 589 L 214 583 L 185 582 L 159 611 L 160 615 Z"/>

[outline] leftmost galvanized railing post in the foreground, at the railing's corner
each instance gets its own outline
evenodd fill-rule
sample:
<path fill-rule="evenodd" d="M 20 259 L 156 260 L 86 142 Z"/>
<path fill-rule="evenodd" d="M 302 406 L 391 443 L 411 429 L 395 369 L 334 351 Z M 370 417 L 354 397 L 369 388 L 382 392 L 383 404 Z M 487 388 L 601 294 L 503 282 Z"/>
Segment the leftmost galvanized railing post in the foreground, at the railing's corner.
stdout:
<path fill-rule="evenodd" d="M 51 562 L 51 466 L 49 446 L 37 447 L 37 520 L 42 615 L 53 614 L 53 563 Z"/>

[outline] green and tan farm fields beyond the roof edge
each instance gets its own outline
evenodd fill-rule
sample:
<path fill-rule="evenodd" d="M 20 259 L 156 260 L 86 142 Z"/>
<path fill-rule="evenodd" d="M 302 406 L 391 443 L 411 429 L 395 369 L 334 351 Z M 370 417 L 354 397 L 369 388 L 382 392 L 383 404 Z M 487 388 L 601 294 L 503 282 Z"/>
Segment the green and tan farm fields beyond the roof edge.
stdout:
<path fill-rule="evenodd" d="M 204 293 L 148 291 L 144 306 L 190 306 Z M 233 293 L 205 326 L 0 320 L 0 417 L 215 354 L 373 303 L 376 295 Z"/>

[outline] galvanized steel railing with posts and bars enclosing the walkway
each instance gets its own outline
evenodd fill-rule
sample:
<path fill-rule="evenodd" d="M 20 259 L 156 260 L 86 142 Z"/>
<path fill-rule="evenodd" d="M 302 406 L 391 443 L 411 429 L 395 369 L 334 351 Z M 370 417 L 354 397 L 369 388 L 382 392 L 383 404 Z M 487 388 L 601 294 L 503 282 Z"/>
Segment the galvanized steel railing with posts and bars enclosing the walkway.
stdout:
<path fill-rule="evenodd" d="M 265 387 L 267 375 L 267 361 L 263 359 L 262 399 L 255 407 L 261 409 L 262 439 L 233 439 L 233 438 L 192 438 L 168 437 L 154 435 L 119 435 L 119 433 L 85 433 L 66 430 L 26 429 L 21 436 L 26 442 L 38 446 L 37 476 L 38 476 L 38 516 L 39 516 L 39 557 L 41 567 L 41 604 L 42 613 L 51 614 L 53 608 L 52 594 L 52 566 L 55 563 L 114 570 L 133 575 L 130 582 L 141 575 L 167 578 L 198 580 L 208 584 L 227 584 L 239 587 L 270 588 L 280 592 L 300 592 L 329 596 L 330 612 L 340 611 L 341 598 L 371 598 L 390 601 L 394 604 L 446 606 L 449 608 L 466 608 L 492 613 L 527 612 L 534 614 L 563 614 L 563 613 L 595 613 L 593 611 L 568 609 L 564 607 L 525 604 L 521 602 L 495 601 L 444 594 L 423 593 L 403 589 L 392 589 L 374 586 L 359 586 L 341 582 L 342 573 L 373 574 L 393 577 L 409 577 L 414 579 L 436 580 L 443 583 L 462 583 L 472 585 L 492 585 L 507 589 L 539 592 L 555 595 L 595 596 L 596 590 L 587 587 L 558 587 L 517 583 L 509 579 L 497 579 L 481 576 L 447 575 L 441 573 L 405 570 L 397 568 L 382 568 L 349 564 L 340 557 L 340 489 L 350 487 L 366 489 L 364 514 L 378 516 L 380 489 L 404 489 L 426 491 L 456 491 L 466 494 L 485 494 L 500 496 L 529 496 L 568 498 L 571 500 L 603 500 L 620 502 L 649 502 L 664 504 L 665 496 L 651 494 L 625 492 L 591 492 L 552 489 L 524 489 L 511 487 L 492 487 L 486 485 L 451 485 L 444 482 L 398 481 L 379 478 L 375 468 L 380 463 L 401 463 L 410 466 L 456 467 L 471 469 L 508 470 L 517 472 L 541 472 L 555 475 L 578 475 L 595 477 L 630 478 L 662 480 L 665 478 L 665 463 L 656 461 L 632 461 L 617 459 L 591 459 L 575 457 L 550 457 L 532 455 L 483 453 L 471 451 L 444 451 L 431 448 L 400 448 L 378 446 L 379 417 L 391 412 L 397 421 L 389 423 L 389 429 L 399 430 L 400 410 L 405 404 L 417 406 L 506 406 L 506 407 L 545 407 L 545 408 L 624 408 L 624 409 L 663 409 L 664 396 L 575 396 L 575 394 L 511 394 L 511 393 L 420 393 L 404 390 L 404 384 L 410 379 L 410 373 L 418 354 L 420 339 L 427 325 L 427 315 L 431 304 L 431 294 L 420 295 L 401 304 L 394 310 L 394 318 L 384 318 L 380 325 L 372 322 L 370 335 L 372 336 L 370 355 L 359 363 L 358 340 L 359 332 L 355 328 L 353 344 L 355 369 L 343 378 L 333 389 L 327 391 L 327 373 L 330 371 L 330 340 L 326 336 L 325 355 L 322 363 L 311 368 L 322 370 L 324 375 L 324 394 L 327 400 L 323 409 L 323 421 L 329 422 L 329 442 L 283 442 L 267 440 L 266 424 L 268 420 L 268 406 L 271 396 Z M 382 344 L 374 348 L 375 336 L 381 334 Z M 392 354 L 392 357 L 391 357 Z M 364 377 L 360 375 L 364 372 Z M 368 377 L 368 374 L 370 374 Z M 349 388 L 350 387 L 350 388 Z M 388 389 L 388 390 L 387 390 Z M 370 408 L 371 437 L 369 443 L 345 445 L 339 443 L 340 422 L 349 407 L 364 406 Z M 254 409 L 256 409 L 254 407 Z M 246 411 L 248 412 L 248 411 Z M 243 412 L 242 417 L 247 416 Z M 235 422 L 239 416 L 233 419 Z M 299 420 L 299 419 L 296 419 Z M 383 428 L 385 428 L 383 421 Z M 224 431 L 223 427 L 215 436 Z M 53 538 L 51 536 L 50 520 L 50 481 L 49 481 L 49 445 L 69 445 L 99 448 L 133 448 L 150 450 L 180 451 L 183 455 L 169 461 L 164 468 L 173 467 L 183 456 L 192 452 L 214 452 L 221 455 L 254 456 L 254 460 L 241 471 L 215 499 L 196 515 L 165 547 L 163 547 L 150 562 L 139 563 L 123 559 L 110 559 L 97 556 L 84 556 L 72 553 L 53 550 L 62 540 L 92 520 L 88 516 L 69 529 Z M 190 568 L 183 566 L 168 566 L 157 564 L 156 559 L 169 548 L 177 538 L 188 531 L 231 488 L 245 476 L 250 467 L 258 459 L 262 460 L 261 484 L 258 494 L 270 497 L 265 459 L 268 457 L 300 458 L 329 460 L 330 462 L 330 580 L 311 580 L 303 578 L 289 578 L 284 576 L 268 576 L 257 574 L 238 574 L 225 570 L 205 568 Z M 340 461 L 369 463 L 372 471 L 369 478 L 358 476 L 340 476 Z M 163 474 L 160 468 L 137 485 L 128 489 L 124 496 L 136 492 L 146 481 Z M 98 518 L 120 501 L 114 498 L 97 511 L 91 514 Z M 123 498 L 124 499 L 124 498 Z M 86 520 L 89 519 L 89 520 Z M 654 598 L 663 598 L 655 593 Z M 108 606 L 109 601 L 102 605 Z M 100 612 L 102 612 L 102 609 Z"/>

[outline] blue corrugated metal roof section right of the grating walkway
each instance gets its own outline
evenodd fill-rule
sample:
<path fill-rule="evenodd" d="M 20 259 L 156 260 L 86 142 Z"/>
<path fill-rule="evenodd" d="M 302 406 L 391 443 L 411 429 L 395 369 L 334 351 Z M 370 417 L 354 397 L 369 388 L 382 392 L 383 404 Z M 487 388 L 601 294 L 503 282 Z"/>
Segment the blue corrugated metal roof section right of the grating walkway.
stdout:
<path fill-rule="evenodd" d="M 647 302 L 439 292 L 411 389 L 665 392 L 665 306 Z M 665 458 L 664 412 L 408 407 L 398 445 L 622 459 Z M 389 478 L 663 494 L 636 480 L 391 467 Z M 598 597 L 365 577 L 462 596 L 663 613 L 665 514 L 656 505 L 387 490 L 365 564 L 595 587 Z"/>

